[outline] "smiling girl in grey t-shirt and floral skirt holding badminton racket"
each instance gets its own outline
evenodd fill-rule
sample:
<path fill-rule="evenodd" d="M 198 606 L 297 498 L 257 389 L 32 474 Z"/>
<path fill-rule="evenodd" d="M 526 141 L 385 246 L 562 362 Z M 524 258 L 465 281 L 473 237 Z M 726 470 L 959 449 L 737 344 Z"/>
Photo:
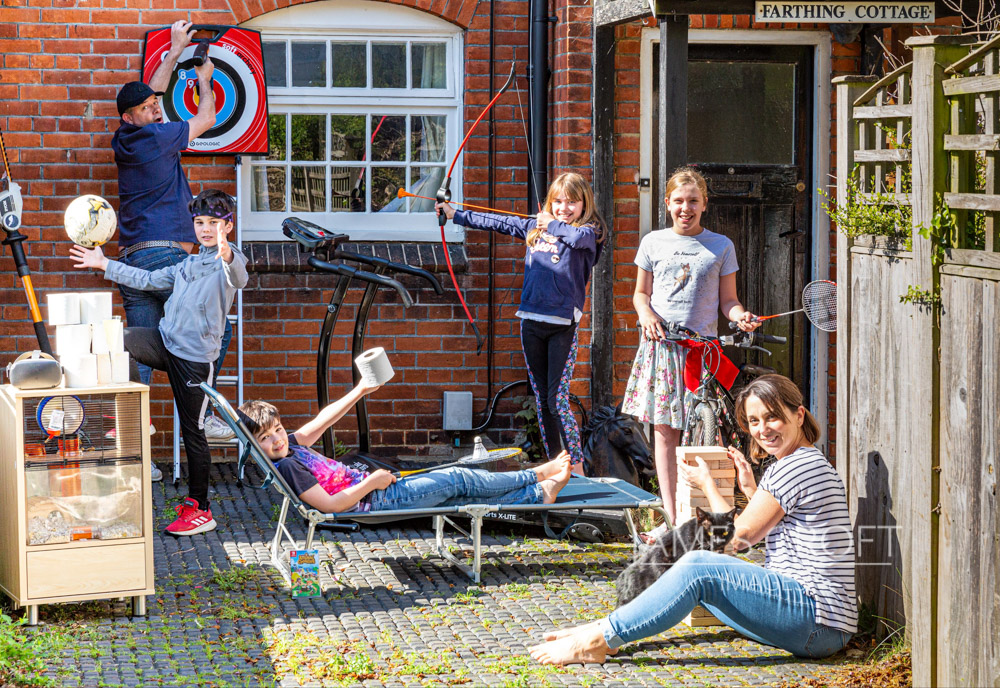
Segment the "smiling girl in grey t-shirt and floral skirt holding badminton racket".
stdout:
<path fill-rule="evenodd" d="M 756 329 L 758 323 L 736 296 L 739 265 L 733 242 L 701 226 L 708 203 L 704 177 L 690 168 L 677 170 L 667 182 L 666 202 L 673 226 L 644 236 L 635 257 L 638 275 L 632 303 L 642 337 L 622 412 L 653 424 L 660 496 L 674 521 L 675 450 L 684 427 L 687 397 L 694 391 L 685 386 L 685 365 L 691 370 L 700 364 L 703 350 L 667 340 L 663 323 L 714 335 L 720 310 L 745 332 Z M 699 358 L 688 360 L 694 356 Z M 647 536 L 656 537 L 659 532 Z"/>

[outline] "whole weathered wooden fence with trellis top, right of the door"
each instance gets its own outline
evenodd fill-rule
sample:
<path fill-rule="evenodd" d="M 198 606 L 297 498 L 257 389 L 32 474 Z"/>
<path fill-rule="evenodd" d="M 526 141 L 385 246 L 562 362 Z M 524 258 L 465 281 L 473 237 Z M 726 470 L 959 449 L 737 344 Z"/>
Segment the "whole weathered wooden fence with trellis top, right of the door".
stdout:
<path fill-rule="evenodd" d="M 914 685 L 992 686 L 1000 39 L 908 45 L 913 62 L 877 83 L 835 80 L 838 199 L 852 193 L 856 170 L 856 202 L 912 210 L 909 238 L 838 234 L 837 467 L 855 521 L 859 596 L 905 622 Z"/>

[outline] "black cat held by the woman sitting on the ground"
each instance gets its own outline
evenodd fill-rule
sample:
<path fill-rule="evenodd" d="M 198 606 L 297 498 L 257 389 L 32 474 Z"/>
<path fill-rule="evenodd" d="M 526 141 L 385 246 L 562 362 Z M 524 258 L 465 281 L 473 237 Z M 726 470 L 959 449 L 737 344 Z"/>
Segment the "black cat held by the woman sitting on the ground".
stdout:
<path fill-rule="evenodd" d="M 615 587 L 618 606 L 627 604 L 656 582 L 685 552 L 708 549 L 721 552 L 733 539 L 733 521 L 742 509 L 726 512 L 695 508 L 695 517 L 673 530 L 668 530 L 656 542 L 640 549 L 635 560 L 621 572 Z"/>

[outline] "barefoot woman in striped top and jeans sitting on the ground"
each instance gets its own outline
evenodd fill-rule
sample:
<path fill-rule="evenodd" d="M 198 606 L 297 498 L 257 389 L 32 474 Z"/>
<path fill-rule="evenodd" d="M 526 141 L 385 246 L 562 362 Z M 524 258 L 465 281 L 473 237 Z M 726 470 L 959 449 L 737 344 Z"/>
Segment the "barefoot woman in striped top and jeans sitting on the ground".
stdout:
<path fill-rule="evenodd" d="M 854 544 L 840 476 L 813 446 L 819 426 L 788 378 L 764 375 L 747 385 L 737 420 L 753 438 L 754 457 L 778 461 L 758 487 L 746 458 L 733 447 L 746 509 L 736 518 L 737 547 L 767 538 L 764 567 L 709 551 L 686 553 L 632 602 L 600 621 L 545 636 L 531 648 L 543 664 L 600 663 L 625 643 L 662 633 L 696 605 L 752 640 L 802 657 L 841 650 L 857 631 Z M 708 497 L 713 511 L 732 506 L 705 462 L 680 466 L 681 476 Z"/>

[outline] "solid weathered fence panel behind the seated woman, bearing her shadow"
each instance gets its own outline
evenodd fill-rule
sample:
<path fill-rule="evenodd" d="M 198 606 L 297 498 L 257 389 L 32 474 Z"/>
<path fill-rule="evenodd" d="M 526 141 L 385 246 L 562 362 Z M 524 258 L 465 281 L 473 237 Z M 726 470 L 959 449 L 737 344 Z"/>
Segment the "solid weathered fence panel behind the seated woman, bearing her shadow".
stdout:
<path fill-rule="evenodd" d="M 908 254 L 851 253 L 849 503 L 857 547 L 858 597 L 895 625 L 911 605 L 909 529 L 914 402 L 894 384 L 925 364 L 912 346 L 912 321 L 899 295 L 911 281 Z M 895 626 L 893 626 L 895 627 Z"/>

